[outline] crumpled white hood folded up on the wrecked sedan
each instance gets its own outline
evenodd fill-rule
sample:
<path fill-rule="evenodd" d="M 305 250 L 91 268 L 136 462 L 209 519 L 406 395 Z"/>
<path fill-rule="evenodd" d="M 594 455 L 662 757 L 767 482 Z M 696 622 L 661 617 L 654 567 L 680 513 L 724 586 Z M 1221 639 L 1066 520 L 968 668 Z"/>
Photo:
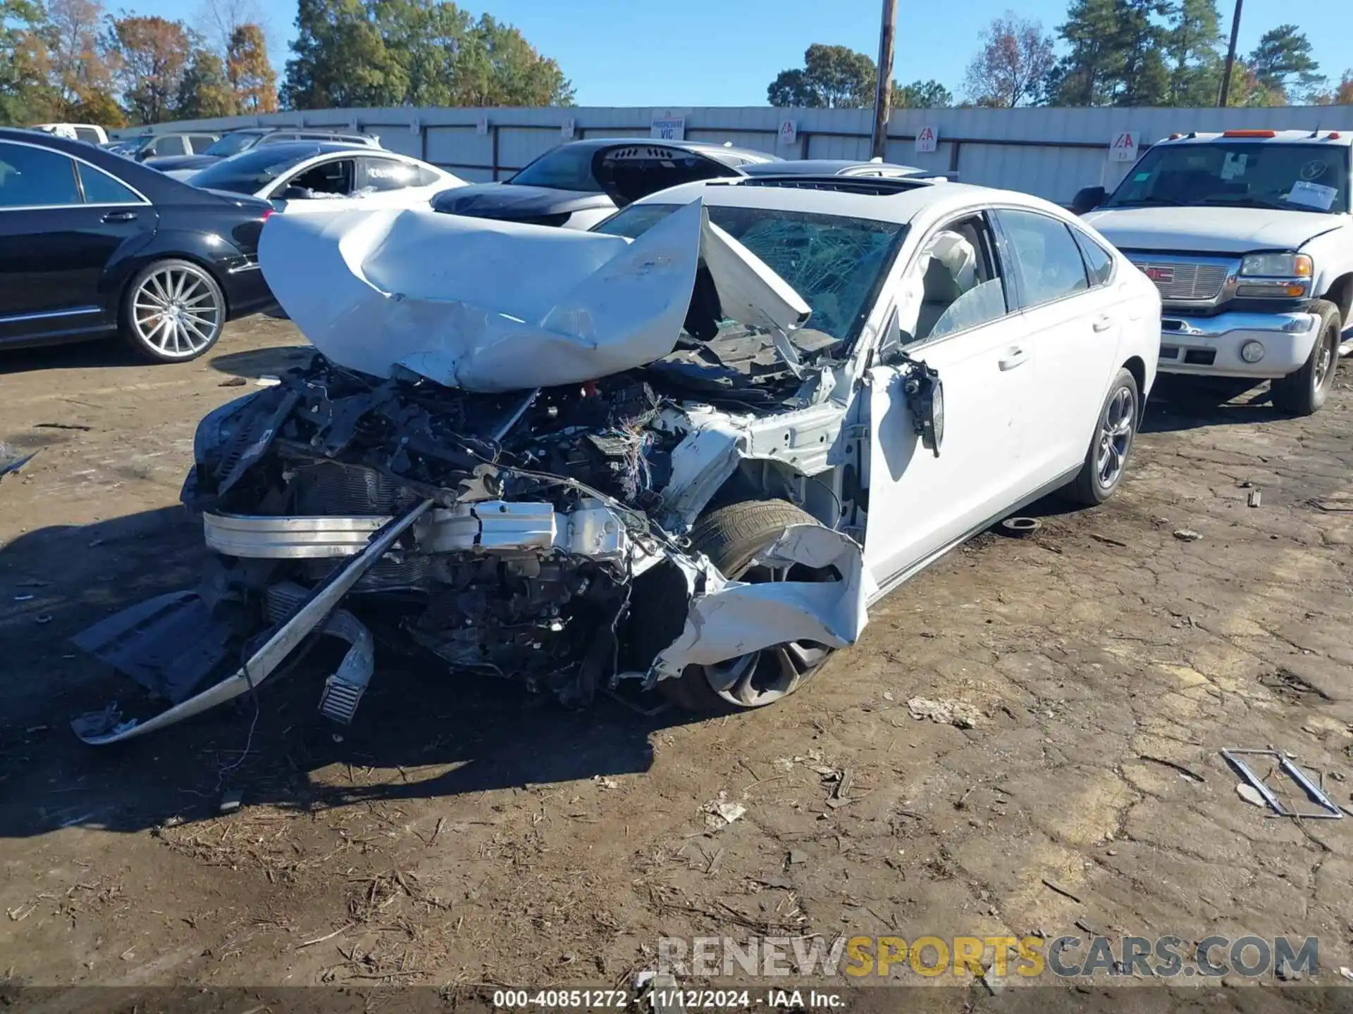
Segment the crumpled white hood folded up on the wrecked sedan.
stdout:
<path fill-rule="evenodd" d="M 476 392 L 643 366 L 700 307 L 781 335 L 810 312 L 701 201 L 635 241 L 422 210 L 277 215 L 260 264 L 333 362 Z"/>

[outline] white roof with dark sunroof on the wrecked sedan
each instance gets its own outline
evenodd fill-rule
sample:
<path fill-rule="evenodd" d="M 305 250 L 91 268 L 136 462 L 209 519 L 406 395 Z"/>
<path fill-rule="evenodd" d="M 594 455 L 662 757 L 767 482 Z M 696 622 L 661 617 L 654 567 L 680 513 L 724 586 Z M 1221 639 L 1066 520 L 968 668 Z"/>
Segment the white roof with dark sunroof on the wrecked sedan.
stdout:
<path fill-rule="evenodd" d="M 1070 219 L 1065 208 L 1028 193 L 966 183 L 935 185 L 932 180 L 907 177 L 767 176 L 701 180 L 651 193 L 635 204 L 689 204 L 697 199 L 704 199 L 706 204 L 716 207 L 805 211 L 898 224 L 911 222 L 923 211 L 943 215 L 947 211 L 993 204 L 1028 208 L 1054 214 L 1063 220 Z"/>

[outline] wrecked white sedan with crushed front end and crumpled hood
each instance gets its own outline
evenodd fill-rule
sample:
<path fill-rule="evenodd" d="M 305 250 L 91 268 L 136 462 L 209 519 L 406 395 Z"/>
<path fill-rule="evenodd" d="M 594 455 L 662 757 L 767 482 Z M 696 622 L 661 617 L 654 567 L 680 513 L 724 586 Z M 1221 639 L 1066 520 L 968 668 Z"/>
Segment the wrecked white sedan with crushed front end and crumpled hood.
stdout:
<path fill-rule="evenodd" d="M 76 638 L 168 707 L 83 715 L 87 742 L 318 637 L 349 645 L 340 723 L 390 644 L 568 704 L 769 704 L 967 537 L 1108 499 L 1160 341 L 1092 228 L 930 180 L 691 183 L 593 233 L 273 216 L 260 256 L 317 356 L 199 426 L 212 566 Z"/>

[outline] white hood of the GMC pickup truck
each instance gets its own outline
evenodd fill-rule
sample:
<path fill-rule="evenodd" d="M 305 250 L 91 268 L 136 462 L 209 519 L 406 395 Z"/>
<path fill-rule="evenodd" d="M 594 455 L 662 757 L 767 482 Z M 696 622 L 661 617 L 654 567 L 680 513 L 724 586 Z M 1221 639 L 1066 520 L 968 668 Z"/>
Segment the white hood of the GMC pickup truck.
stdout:
<path fill-rule="evenodd" d="M 1299 250 L 1344 224 L 1339 215 L 1269 208 L 1105 208 L 1085 215 L 1122 250 Z"/>

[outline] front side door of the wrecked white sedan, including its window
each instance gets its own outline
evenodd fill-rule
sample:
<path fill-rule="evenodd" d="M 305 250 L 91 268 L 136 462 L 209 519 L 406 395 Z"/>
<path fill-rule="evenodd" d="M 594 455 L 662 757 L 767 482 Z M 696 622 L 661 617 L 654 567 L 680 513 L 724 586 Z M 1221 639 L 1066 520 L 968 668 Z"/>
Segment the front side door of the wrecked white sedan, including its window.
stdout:
<path fill-rule="evenodd" d="M 989 525 L 1027 485 L 1034 343 L 997 233 L 986 214 L 969 214 L 932 230 L 920 250 L 901 279 L 897 345 L 885 334 L 882 365 L 869 372 L 865 562 L 882 591 Z M 938 456 L 913 425 L 905 357 L 939 373 Z"/>

